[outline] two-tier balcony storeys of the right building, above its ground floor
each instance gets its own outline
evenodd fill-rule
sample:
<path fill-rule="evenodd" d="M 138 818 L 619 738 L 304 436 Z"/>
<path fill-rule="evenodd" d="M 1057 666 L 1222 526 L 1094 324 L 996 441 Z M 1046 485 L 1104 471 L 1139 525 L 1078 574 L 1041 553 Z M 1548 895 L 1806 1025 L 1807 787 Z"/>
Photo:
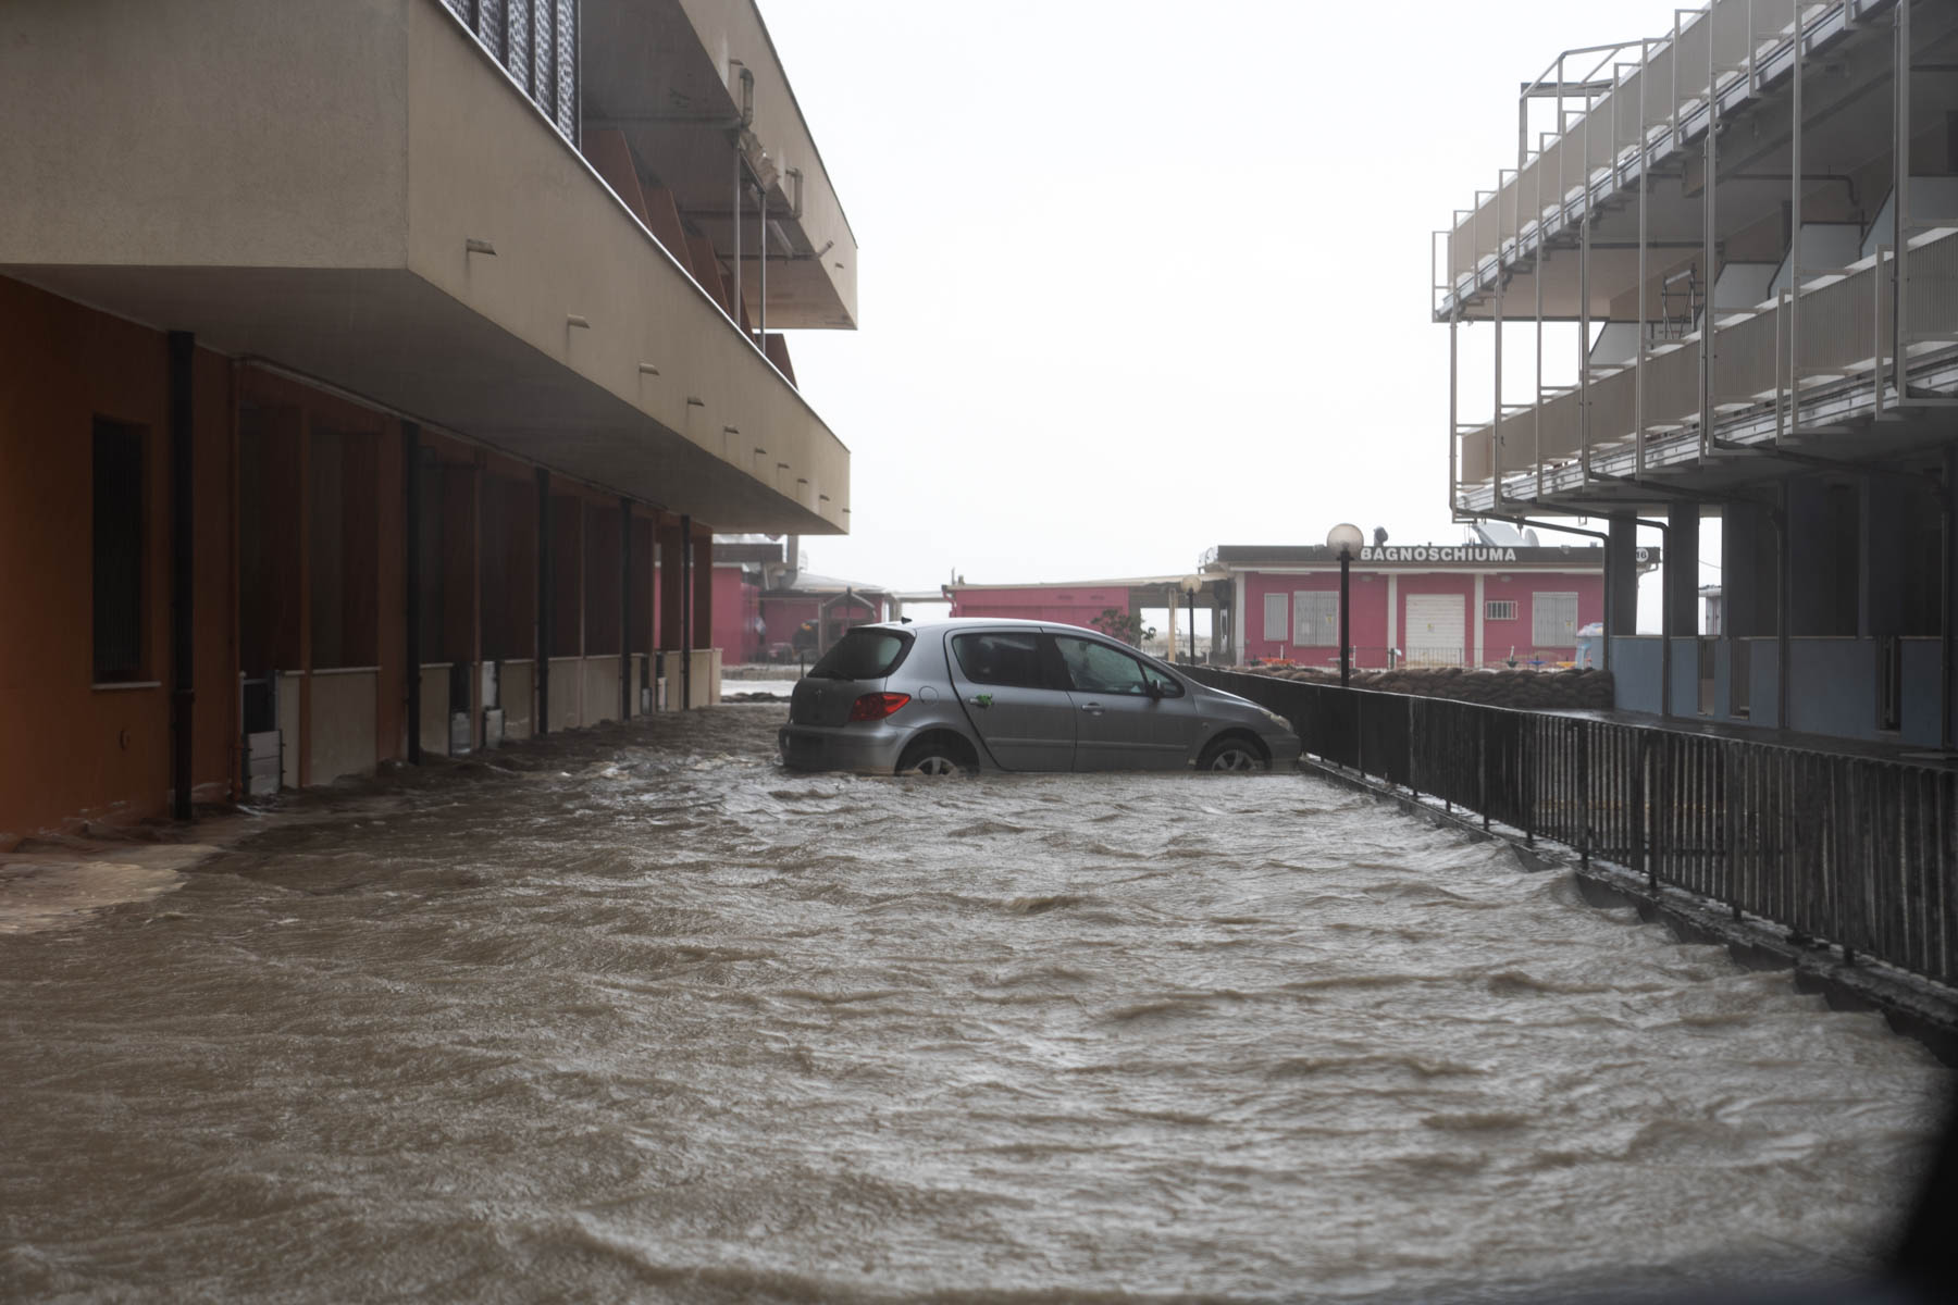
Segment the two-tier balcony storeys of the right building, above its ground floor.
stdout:
<path fill-rule="evenodd" d="M 1517 166 L 1437 233 L 1435 319 L 1498 335 L 1486 382 L 1453 378 L 1455 513 L 1719 499 L 1938 444 L 1954 51 L 1950 6 L 1711 0 L 1523 84 Z M 1533 112 L 1557 131 L 1533 141 Z M 1514 403 L 1502 337 L 1529 327 L 1537 387 Z M 1566 333 L 1553 368 L 1580 342 L 1576 376 L 1545 376 L 1545 327 Z M 1488 421 L 1463 421 L 1465 383 Z"/>

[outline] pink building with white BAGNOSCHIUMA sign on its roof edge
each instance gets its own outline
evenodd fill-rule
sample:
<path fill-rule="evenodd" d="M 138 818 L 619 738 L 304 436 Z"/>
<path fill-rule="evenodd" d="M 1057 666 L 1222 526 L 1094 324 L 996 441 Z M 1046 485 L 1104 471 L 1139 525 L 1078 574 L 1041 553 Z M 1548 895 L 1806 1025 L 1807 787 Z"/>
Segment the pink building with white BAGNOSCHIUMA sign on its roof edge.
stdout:
<path fill-rule="evenodd" d="M 1339 560 L 1326 546 L 1224 544 L 1204 575 L 1222 581 L 1232 661 L 1337 665 Z M 1353 657 L 1369 669 L 1572 663 L 1578 630 L 1602 618 L 1598 546 L 1378 546 L 1351 563 Z"/>

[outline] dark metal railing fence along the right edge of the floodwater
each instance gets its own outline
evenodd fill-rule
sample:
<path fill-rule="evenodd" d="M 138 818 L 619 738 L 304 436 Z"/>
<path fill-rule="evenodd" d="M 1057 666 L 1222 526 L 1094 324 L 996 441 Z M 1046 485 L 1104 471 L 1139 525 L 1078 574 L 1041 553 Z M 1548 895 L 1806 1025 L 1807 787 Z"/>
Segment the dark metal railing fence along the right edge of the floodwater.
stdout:
<path fill-rule="evenodd" d="M 1958 984 L 1958 775 L 1635 726 L 1185 667 L 1324 761 Z"/>

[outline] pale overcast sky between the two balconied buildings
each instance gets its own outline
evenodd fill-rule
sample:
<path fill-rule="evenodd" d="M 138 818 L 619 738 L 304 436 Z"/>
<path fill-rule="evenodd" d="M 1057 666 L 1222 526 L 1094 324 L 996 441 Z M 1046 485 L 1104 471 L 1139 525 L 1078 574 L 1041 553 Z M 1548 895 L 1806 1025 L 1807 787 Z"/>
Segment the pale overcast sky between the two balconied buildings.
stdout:
<path fill-rule="evenodd" d="M 789 340 L 852 450 L 852 536 L 805 552 L 905 589 L 1337 520 L 1459 540 L 1429 231 L 1515 162 L 1519 82 L 1672 29 L 1660 0 L 760 2 L 862 247 L 860 329 Z"/>

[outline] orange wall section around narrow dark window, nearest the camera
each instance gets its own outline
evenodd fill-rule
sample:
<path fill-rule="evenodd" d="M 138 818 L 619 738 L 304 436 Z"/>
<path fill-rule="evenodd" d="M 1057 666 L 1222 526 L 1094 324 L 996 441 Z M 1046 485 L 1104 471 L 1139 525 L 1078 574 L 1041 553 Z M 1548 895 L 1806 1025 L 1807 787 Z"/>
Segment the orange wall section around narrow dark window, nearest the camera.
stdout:
<path fill-rule="evenodd" d="M 0 278 L 0 837 L 141 820 L 170 787 L 166 337 Z M 204 794 L 229 777 L 231 368 L 196 372 L 196 716 Z M 92 689 L 92 432 L 145 428 L 145 689 Z"/>

